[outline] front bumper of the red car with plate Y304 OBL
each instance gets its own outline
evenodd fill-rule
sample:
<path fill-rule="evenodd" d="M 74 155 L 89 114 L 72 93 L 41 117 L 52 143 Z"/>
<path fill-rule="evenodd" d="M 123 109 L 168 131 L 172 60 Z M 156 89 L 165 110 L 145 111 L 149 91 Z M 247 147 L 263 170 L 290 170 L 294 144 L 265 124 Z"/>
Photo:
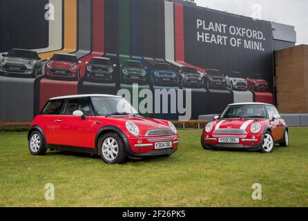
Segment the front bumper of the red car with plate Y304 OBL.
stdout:
<path fill-rule="evenodd" d="M 126 144 L 128 157 L 131 159 L 171 155 L 177 151 L 177 146 L 180 144 L 178 135 L 164 137 L 123 137 L 123 140 Z M 157 142 L 172 142 L 172 147 L 155 149 L 155 143 Z"/>

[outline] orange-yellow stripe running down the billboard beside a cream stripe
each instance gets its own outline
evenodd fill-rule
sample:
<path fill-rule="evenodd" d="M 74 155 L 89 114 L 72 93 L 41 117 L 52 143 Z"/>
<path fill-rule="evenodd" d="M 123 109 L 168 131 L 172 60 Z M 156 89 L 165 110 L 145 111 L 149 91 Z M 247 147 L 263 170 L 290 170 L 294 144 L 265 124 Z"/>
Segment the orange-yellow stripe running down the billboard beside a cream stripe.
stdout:
<path fill-rule="evenodd" d="M 64 1 L 64 48 L 39 54 L 45 60 L 55 53 L 70 53 L 77 49 L 77 0 Z"/>

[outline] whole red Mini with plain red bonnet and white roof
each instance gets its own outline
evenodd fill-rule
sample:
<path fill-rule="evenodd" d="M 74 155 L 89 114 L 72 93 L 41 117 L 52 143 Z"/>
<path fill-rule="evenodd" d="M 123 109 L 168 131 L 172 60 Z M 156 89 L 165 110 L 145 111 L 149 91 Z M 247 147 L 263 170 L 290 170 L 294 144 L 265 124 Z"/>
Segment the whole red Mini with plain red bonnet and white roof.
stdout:
<path fill-rule="evenodd" d="M 32 155 L 45 155 L 47 149 L 74 151 L 100 155 L 109 164 L 121 164 L 126 157 L 167 157 L 179 143 L 171 122 L 142 117 L 113 95 L 51 98 L 28 133 Z"/>

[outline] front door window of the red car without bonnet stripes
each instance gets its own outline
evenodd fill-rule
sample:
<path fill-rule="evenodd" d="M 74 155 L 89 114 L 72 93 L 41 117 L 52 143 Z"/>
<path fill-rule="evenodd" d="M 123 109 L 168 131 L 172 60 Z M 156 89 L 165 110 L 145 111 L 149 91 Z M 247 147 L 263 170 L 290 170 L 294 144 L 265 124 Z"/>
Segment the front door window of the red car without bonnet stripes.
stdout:
<path fill-rule="evenodd" d="M 74 111 L 82 111 L 85 116 L 92 116 L 88 98 L 68 99 L 64 108 L 64 115 L 73 115 Z"/>

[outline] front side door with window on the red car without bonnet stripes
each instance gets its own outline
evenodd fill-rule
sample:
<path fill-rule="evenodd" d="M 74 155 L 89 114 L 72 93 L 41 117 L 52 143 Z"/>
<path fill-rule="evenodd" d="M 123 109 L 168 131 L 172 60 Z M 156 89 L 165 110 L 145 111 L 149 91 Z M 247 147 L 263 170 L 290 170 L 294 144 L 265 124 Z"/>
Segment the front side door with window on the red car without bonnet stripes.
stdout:
<path fill-rule="evenodd" d="M 93 148 L 93 121 L 88 97 L 66 99 L 63 110 L 59 122 L 59 144 Z M 74 116 L 74 111 L 82 111 L 84 116 Z"/>

